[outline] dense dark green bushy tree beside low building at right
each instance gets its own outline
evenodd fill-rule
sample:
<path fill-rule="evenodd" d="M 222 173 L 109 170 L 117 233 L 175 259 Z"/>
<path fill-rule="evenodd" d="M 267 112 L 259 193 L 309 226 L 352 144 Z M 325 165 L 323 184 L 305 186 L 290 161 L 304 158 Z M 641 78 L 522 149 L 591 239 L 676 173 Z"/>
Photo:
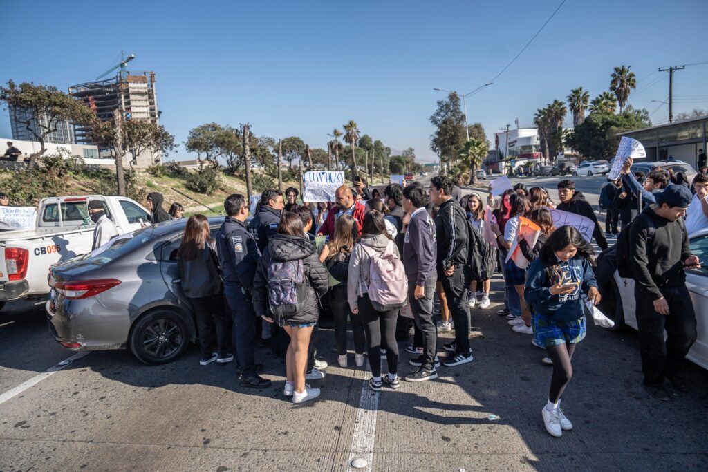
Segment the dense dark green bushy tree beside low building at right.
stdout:
<path fill-rule="evenodd" d="M 619 115 L 614 112 L 590 113 L 582 125 L 569 132 L 566 144 L 586 158 L 608 159 L 615 155 L 619 146 L 618 133 L 650 126 L 646 109 L 636 110 L 632 105 Z"/>

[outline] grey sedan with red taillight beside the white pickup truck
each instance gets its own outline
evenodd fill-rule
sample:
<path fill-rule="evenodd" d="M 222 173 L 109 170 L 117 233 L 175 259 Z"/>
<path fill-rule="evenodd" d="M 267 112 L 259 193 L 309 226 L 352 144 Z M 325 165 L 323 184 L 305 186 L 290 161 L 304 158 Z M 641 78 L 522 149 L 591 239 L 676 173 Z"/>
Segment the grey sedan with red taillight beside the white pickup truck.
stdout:
<path fill-rule="evenodd" d="M 146 364 L 179 357 L 197 336 L 177 268 L 186 221 L 147 226 L 101 253 L 52 265 L 46 307 L 57 342 L 72 351 L 127 348 Z M 209 219 L 212 237 L 223 222 Z"/>

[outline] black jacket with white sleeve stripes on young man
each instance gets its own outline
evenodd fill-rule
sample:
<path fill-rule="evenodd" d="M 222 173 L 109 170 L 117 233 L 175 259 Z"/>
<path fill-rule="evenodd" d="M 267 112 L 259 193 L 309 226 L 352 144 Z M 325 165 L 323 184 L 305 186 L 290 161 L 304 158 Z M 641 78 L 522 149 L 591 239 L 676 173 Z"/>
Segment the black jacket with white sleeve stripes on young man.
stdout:
<path fill-rule="evenodd" d="M 451 265 L 463 266 L 467 263 L 469 238 L 467 237 L 467 216 L 454 198 L 440 205 L 435 215 L 435 238 L 438 240 L 436 266 L 438 275 Z"/>

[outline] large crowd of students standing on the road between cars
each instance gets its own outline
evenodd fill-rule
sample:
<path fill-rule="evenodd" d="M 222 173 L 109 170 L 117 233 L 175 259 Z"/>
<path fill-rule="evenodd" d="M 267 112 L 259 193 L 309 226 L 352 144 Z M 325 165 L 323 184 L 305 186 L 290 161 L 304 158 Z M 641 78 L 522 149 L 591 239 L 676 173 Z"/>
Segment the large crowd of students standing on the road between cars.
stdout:
<path fill-rule="evenodd" d="M 696 208 L 708 208 L 708 175 L 699 174 L 693 181 L 696 197 L 684 185 L 665 185 L 661 193 L 645 186 L 642 190 L 650 192 L 648 196 L 627 177 L 629 166 L 631 162 L 622 173 L 627 196 L 643 200 L 641 220 L 652 221 L 623 223 L 632 240 L 627 258 L 636 275 L 638 306 L 644 300 L 637 313 L 645 383 L 663 388 L 666 377 L 684 388 L 678 362 L 695 341 L 695 314 L 685 292 L 683 268 L 698 267 L 700 261 L 690 254 L 683 215 L 687 208 L 689 217 Z M 224 321 L 228 309 L 241 384 L 270 386 L 258 374 L 254 355 L 258 340 L 267 340 L 286 360 L 284 395 L 292 396 L 294 403 L 312 400 L 319 389 L 306 382 L 323 378 L 328 367 L 315 354 L 319 318 L 329 310 L 338 365 L 348 367 L 350 362 L 350 326 L 354 364 L 361 367 L 368 357 L 373 391 L 401 385 L 398 343 L 409 339 L 406 316 L 414 321 L 415 334 L 406 351 L 416 355 L 409 361 L 416 369 L 404 379 L 435 379 L 441 365 L 472 361 L 470 309 L 490 306 L 491 278 L 501 269 L 506 289 L 504 307 L 497 313 L 508 318 L 515 332 L 532 335 L 532 343 L 547 352 L 544 362 L 553 366 L 542 409 L 544 425 L 556 437 L 570 430 L 572 424 L 560 408 L 561 396 L 571 379 L 574 347 L 586 335 L 584 313 L 601 296 L 593 272 L 593 247 L 573 227 L 554 227 L 550 210 L 595 221 L 593 237 L 606 249 L 595 212 L 572 180 L 557 185 L 558 205 L 540 187 L 517 185 L 500 197 L 489 194 L 486 202 L 478 193 L 453 197 L 456 190 L 445 176 L 433 177 L 428 189 L 417 182 L 406 188 L 390 184 L 382 198 L 360 185 L 343 185 L 336 190 L 335 202 L 316 205 L 298 205 L 295 188 L 286 190 L 287 203 L 282 192 L 266 190 L 252 219 L 245 197 L 231 195 L 224 202 L 227 217 L 215 243 L 209 241 L 205 217 L 190 217 L 180 248 L 181 268 L 190 274 L 182 276 L 183 284 L 187 279 L 219 281 L 205 284 L 210 287 L 206 290 L 185 288 L 201 318 L 200 364 L 234 358 L 227 352 L 224 334 L 229 329 Z M 540 229 L 533 244 L 520 234 L 522 217 Z M 647 231 L 653 236 L 647 238 Z M 326 236 L 326 241 L 316 236 Z M 672 241 L 681 243 L 672 246 Z M 525 264 L 508 257 L 514 243 Z M 666 265 L 665 258 L 676 261 Z M 667 313 L 675 313 L 680 323 L 662 321 L 658 327 L 656 316 L 667 319 Z M 438 330 L 453 326 L 455 339 L 442 345 L 448 355 L 439 359 Z M 664 328 L 669 335 L 666 345 L 659 336 Z"/>

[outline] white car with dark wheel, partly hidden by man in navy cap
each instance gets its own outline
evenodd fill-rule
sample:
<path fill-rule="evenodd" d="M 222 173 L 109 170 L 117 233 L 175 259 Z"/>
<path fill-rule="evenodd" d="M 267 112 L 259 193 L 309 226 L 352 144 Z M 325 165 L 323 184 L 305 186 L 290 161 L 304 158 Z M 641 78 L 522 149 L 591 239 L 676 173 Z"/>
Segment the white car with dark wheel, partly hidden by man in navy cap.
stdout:
<path fill-rule="evenodd" d="M 708 229 L 690 234 L 689 240 L 691 252 L 697 255 L 699 260 L 708 261 Z M 600 310 L 615 321 L 615 326 L 611 329 L 622 330 L 625 326 L 636 329 L 634 279 L 619 277 L 616 253 L 603 251 L 600 254 L 595 277 L 603 296 Z M 698 338 L 687 357 L 708 369 L 708 267 L 686 270 L 686 287 L 696 312 L 698 330 Z"/>

